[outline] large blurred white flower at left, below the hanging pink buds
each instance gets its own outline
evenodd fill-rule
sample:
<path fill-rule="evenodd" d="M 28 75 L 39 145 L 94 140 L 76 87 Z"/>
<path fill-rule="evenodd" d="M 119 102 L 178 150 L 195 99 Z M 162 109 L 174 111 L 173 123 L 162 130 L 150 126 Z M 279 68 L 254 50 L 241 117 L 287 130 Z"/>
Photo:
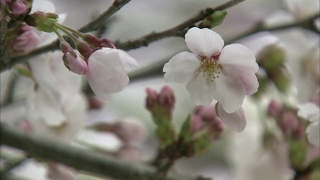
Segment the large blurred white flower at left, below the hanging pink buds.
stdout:
<path fill-rule="evenodd" d="M 87 104 L 81 77 L 64 67 L 61 56 L 57 50 L 28 61 L 35 84 L 26 99 L 26 115 L 35 133 L 70 140 L 83 125 Z"/>

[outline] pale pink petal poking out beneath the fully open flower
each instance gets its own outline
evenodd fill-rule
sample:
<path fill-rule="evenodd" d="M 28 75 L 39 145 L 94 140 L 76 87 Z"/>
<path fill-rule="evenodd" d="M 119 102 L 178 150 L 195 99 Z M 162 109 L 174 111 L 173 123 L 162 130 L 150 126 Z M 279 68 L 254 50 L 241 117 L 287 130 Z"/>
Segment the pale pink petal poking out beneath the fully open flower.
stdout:
<path fill-rule="evenodd" d="M 245 112 L 242 106 L 232 113 L 227 113 L 221 103 L 218 103 L 218 114 L 220 119 L 233 130 L 242 132 L 246 126 Z"/>

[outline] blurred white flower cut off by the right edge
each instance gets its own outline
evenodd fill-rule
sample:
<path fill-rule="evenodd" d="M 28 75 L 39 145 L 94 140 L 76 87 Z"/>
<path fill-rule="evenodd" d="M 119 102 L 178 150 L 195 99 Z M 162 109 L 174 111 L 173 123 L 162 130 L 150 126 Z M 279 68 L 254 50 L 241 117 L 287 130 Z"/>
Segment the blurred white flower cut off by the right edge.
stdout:
<path fill-rule="evenodd" d="M 319 145 L 319 129 L 320 129 L 320 109 L 319 107 L 312 102 L 306 102 L 297 105 L 298 116 L 306 118 L 310 121 L 310 124 L 306 128 L 306 133 L 308 134 L 307 138 L 310 143 L 316 146 Z"/>

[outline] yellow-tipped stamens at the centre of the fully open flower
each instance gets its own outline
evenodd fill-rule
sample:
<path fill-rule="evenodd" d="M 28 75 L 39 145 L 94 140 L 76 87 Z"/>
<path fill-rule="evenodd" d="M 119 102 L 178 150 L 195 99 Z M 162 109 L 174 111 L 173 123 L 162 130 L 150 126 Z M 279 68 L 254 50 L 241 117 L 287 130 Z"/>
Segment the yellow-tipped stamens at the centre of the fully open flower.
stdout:
<path fill-rule="evenodd" d="M 220 65 L 218 61 L 213 58 L 202 58 L 201 57 L 200 71 L 203 73 L 203 77 L 206 81 L 213 82 L 215 78 L 219 78 Z"/>

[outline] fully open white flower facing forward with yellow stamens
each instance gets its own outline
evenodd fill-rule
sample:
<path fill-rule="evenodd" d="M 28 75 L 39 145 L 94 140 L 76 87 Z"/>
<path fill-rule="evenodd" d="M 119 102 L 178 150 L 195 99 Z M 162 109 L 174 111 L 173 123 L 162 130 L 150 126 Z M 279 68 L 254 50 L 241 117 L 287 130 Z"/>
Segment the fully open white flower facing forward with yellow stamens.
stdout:
<path fill-rule="evenodd" d="M 223 47 L 216 32 L 197 27 L 185 34 L 186 46 L 192 52 L 180 52 L 164 64 L 164 79 L 186 84 L 191 100 L 209 105 L 215 98 L 227 113 L 241 107 L 245 95 L 257 91 L 255 72 L 258 65 L 253 53 L 241 44 Z"/>

